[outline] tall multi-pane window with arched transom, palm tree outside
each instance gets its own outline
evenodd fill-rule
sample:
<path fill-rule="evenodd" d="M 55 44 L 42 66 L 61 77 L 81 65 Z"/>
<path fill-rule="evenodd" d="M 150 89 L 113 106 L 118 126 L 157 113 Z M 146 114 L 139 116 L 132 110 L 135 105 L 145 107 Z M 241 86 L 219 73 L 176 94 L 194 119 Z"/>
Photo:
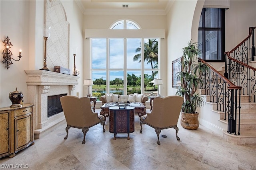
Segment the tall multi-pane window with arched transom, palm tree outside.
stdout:
<path fill-rule="evenodd" d="M 132 21 L 122 20 L 110 29 L 140 27 Z M 158 38 L 91 38 L 91 56 L 93 94 L 157 90 L 150 81 L 158 78 Z"/>

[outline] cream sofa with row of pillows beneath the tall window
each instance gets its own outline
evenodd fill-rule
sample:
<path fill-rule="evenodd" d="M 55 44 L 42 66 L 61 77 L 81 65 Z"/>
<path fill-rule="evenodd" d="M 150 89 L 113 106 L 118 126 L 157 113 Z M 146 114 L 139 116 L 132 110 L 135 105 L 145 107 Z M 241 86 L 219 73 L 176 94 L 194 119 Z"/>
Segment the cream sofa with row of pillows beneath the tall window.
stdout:
<path fill-rule="evenodd" d="M 148 100 L 148 96 L 145 96 L 144 94 L 127 94 L 127 95 L 120 95 L 120 94 L 105 94 L 104 96 L 100 97 L 100 101 L 102 101 L 102 105 L 108 102 L 141 102 L 146 106 L 146 101 Z"/>

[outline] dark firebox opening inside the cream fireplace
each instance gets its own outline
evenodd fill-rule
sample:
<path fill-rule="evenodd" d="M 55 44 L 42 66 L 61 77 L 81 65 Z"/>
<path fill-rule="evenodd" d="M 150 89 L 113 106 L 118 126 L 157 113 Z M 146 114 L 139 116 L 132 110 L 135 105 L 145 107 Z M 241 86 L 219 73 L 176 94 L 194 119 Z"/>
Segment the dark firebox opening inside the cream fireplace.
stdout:
<path fill-rule="evenodd" d="M 67 96 L 67 94 L 48 96 L 47 117 L 50 117 L 63 111 L 60 103 L 60 97 L 62 96 Z"/>

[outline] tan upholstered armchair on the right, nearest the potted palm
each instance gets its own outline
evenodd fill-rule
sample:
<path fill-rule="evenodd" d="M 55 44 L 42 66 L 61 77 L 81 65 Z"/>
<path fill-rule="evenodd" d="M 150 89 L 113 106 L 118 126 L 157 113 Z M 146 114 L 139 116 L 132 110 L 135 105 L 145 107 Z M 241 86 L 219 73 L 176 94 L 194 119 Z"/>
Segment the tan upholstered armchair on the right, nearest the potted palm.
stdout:
<path fill-rule="evenodd" d="M 183 97 L 167 96 L 164 98 L 154 98 L 154 106 L 151 113 L 146 113 L 140 117 L 140 133 L 142 133 L 142 123 L 153 127 L 157 135 L 157 144 L 160 145 L 159 134 L 161 129 L 174 128 L 176 130 L 176 139 L 178 137 L 179 128 L 177 127 L 180 115 Z"/>

